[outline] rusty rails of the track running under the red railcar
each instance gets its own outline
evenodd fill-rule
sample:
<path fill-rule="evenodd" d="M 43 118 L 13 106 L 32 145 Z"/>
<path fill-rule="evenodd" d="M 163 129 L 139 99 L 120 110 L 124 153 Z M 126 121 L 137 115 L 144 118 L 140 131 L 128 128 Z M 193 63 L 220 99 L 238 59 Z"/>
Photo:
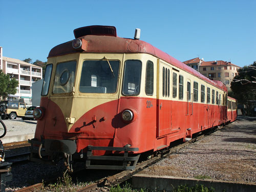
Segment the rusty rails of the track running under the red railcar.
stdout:
<path fill-rule="evenodd" d="M 218 129 L 221 129 L 218 128 Z M 216 131 L 217 129 L 214 129 L 214 131 Z M 212 133 L 212 132 L 211 132 Z M 179 150 L 182 147 L 187 146 L 188 144 L 192 143 L 192 142 L 196 142 L 200 139 L 202 139 L 203 137 L 205 137 L 206 135 L 208 135 L 209 132 L 204 133 L 203 135 L 200 135 L 196 138 L 191 139 L 190 141 L 187 141 L 185 143 L 179 144 L 177 146 L 174 146 L 172 148 L 169 148 L 168 150 L 165 150 L 164 152 L 162 152 L 161 154 L 158 154 L 154 157 L 152 157 L 151 159 L 142 161 L 140 163 L 138 163 L 135 167 L 134 170 L 124 170 L 120 173 L 117 173 L 115 175 L 112 175 L 110 177 L 107 178 L 102 178 L 86 187 L 83 187 L 79 190 L 77 190 L 77 192 L 85 192 L 85 191 L 90 191 L 92 189 L 96 189 L 98 187 L 102 187 L 102 186 L 110 186 L 110 185 L 114 185 L 114 184 L 120 184 L 124 181 L 126 181 L 127 179 L 131 178 L 134 174 L 140 172 L 143 168 L 150 166 L 158 161 L 160 161 L 162 158 L 166 158 L 168 157 L 170 154 L 176 152 L 177 150 Z M 18 192 L 27 192 L 27 191 L 37 191 L 42 187 L 42 183 L 37 183 L 35 185 L 31 185 L 28 187 L 25 187 L 23 189 L 19 189 L 17 190 Z"/>

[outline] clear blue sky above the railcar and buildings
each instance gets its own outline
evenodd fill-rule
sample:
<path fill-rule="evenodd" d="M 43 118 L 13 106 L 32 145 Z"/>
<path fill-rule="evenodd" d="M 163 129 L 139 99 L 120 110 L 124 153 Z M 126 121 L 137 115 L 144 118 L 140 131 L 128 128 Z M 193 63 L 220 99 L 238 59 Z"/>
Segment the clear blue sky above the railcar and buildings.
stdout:
<path fill-rule="evenodd" d="M 3 56 L 47 61 L 73 30 L 115 26 L 120 37 L 149 42 L 180 61 L 200 57 L 243 67 L 256 60 L 256 1 L 1 0 Z"/>

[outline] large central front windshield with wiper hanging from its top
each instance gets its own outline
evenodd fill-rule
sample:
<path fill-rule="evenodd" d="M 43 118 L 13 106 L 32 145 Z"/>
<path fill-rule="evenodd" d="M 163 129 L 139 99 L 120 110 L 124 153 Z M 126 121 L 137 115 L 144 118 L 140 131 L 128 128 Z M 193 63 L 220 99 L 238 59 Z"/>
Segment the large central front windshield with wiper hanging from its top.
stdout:
<path fill-rule="evenodd" d="M 116 93 L 120 62 L 85 60 L 79 85 L 81 93 Z"/>

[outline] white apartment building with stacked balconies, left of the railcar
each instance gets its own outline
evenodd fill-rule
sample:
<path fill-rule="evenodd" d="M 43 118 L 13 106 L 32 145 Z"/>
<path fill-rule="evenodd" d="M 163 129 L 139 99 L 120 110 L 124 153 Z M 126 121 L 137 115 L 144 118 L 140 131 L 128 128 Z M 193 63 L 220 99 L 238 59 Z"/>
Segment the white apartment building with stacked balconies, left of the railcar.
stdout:
<path fill-rule="evenodd" d="M 3 48 L 0 47 L 0 69 L 9 74 L 10 78 L 18 80 L 17 93 L 10 95 L 10 100 L 24 99 L 25 103 L 32 105 L 32 83 L 42 79 L 42 68 L 24 62 L 19 59 L 3 56 Z"/>

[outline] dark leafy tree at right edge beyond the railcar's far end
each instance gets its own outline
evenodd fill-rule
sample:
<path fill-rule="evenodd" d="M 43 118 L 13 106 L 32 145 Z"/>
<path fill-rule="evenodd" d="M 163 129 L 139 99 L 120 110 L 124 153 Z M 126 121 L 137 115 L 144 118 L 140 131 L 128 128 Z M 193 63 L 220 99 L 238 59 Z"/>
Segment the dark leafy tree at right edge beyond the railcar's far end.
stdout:
<path fill-rule="evenodd" d="M 256 61 L 239 69 L 238 73 L 231 82 L 234 98 L 243 104 L 248 100 L 256 100 Z"/>

